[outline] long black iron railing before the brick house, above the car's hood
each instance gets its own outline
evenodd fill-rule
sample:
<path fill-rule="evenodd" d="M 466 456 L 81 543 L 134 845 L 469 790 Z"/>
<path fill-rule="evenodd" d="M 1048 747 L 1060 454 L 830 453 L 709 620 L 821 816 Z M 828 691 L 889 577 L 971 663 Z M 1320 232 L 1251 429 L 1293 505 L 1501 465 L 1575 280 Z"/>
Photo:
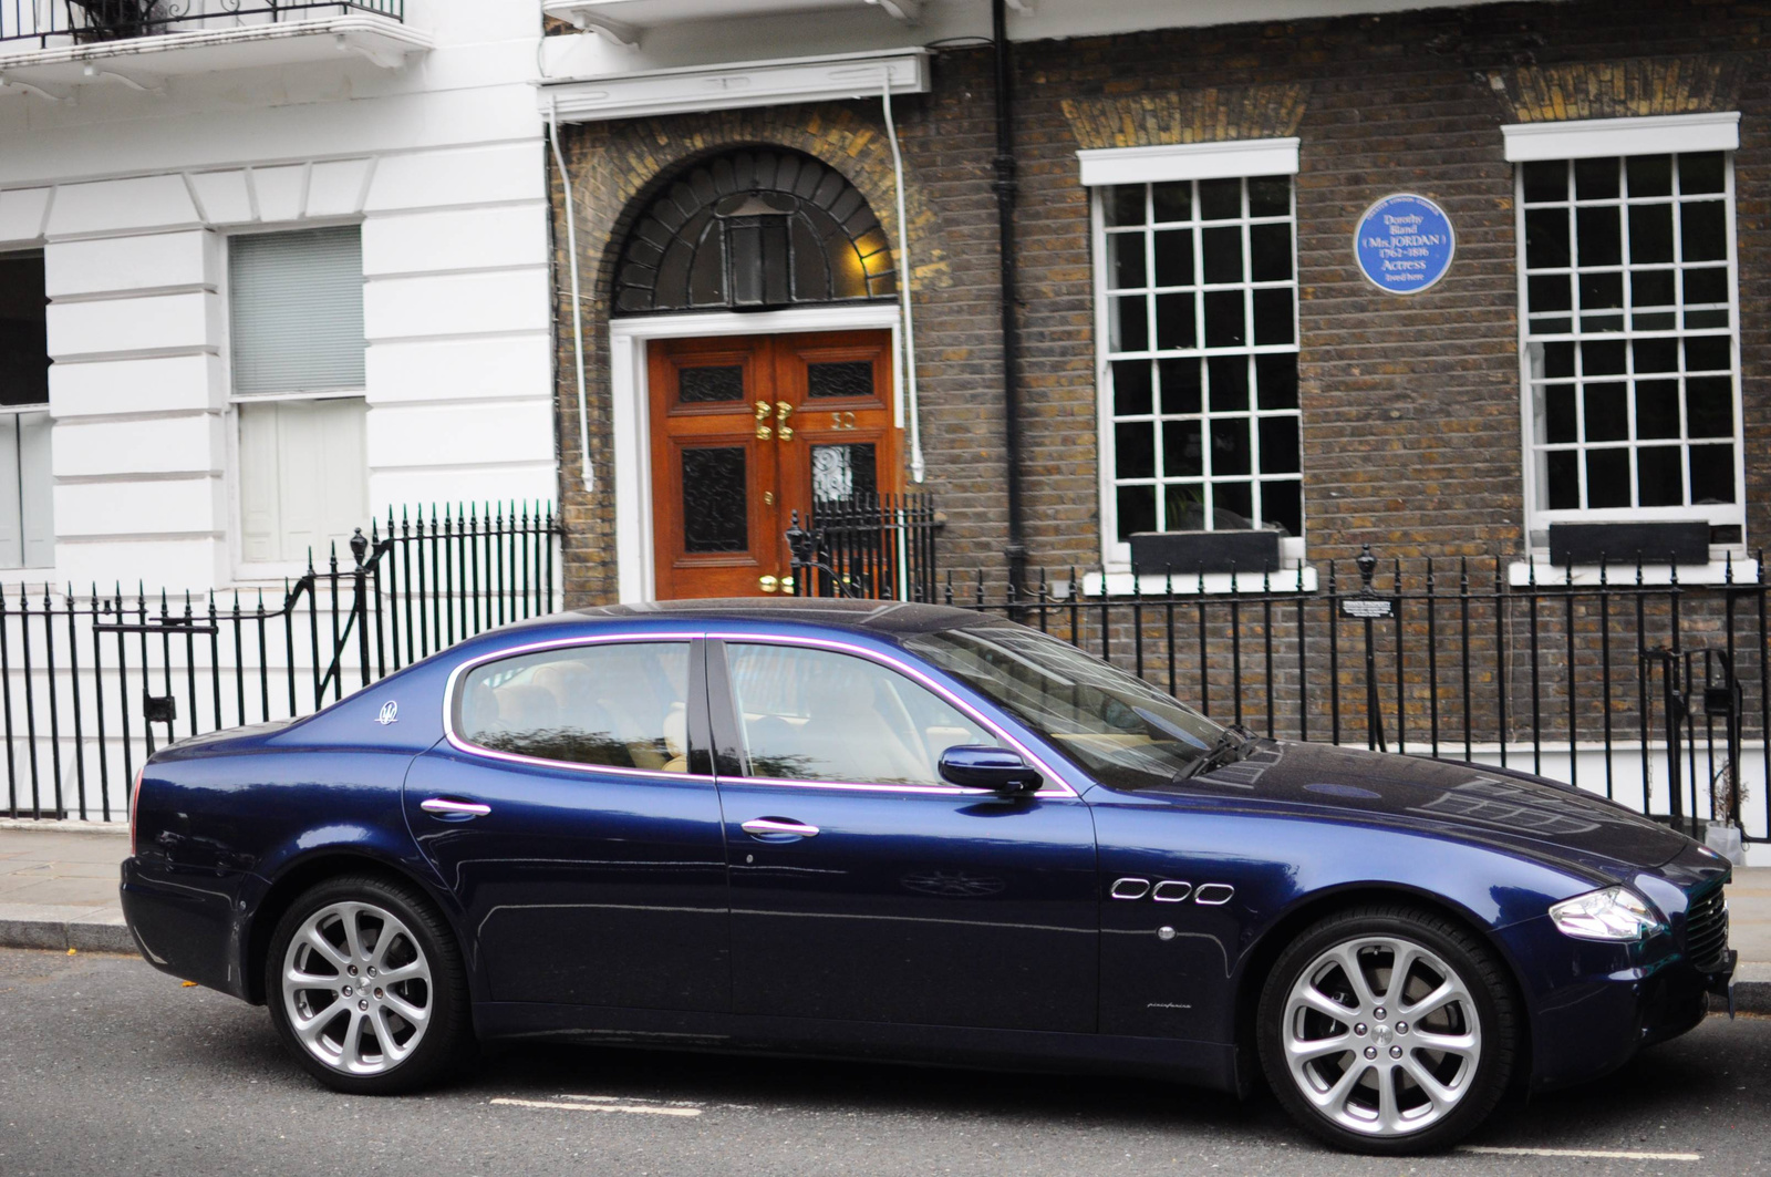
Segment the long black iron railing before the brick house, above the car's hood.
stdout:
<path fill-rule="evenodd" d="M 1691 828 L 1771 835 L 1762 560 L 1728 560 L 1721 583 L 1667 565 L 1511 583 L 1502 560 L 1367 550 L 1296 576 L 947 573 L 933 599 L 1022 620 L 1266 736 L 1511 764 Z"/>

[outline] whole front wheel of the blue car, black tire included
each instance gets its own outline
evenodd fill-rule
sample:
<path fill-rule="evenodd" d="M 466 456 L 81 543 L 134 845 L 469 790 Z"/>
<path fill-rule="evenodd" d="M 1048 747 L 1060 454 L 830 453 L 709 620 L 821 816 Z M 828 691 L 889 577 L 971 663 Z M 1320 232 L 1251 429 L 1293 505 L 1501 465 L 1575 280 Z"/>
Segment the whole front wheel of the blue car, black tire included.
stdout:
<path fill-rule="evenodd" d="M 1383 945 L 1360 941 L 1411 945 L 1427 954 L 1404 964 L 1401 989 L 1415 994 L 1415 1005 L 1426 1005 L 1422 987 L 1435 989 L 1438 966 L 1456 973 L 1452 986 L 1461 996 L 1427 1012 L 1419 1028 L 1408 1026 L 1396 1009 L 1373 1005 L 1392 1002 L 1406 1009 L 1406 1002 L 1394 996 L 1394 966 L 1401 948 L 1387 954 Z M 1332 959 L 1342 952 L 1351 952 L 1350 959 L 1357 961 L 1367 1000 L 1353 991 L 1353 982 Z M 1312 978 L 1307 986 L 1305 977 Z M 1350 1005 L 1348 1019 L 1316 1012 L 1302 1000 L 1307 996 L 1303 987 L 1316 994 L 1341 989 L 1342 996 L 1335 1002 Z M 1300 994 L 1298 1000 L 1295 994 Z M 1355 1009 L 1362 1012 L 1355 1014 Z M 1422 1032 L 1440 1037 L 1422 1039 Z M 1355 1049 L 1325 1051 L 1298 1064 L 1295 1072 L 1288 1042 L 1303 1048 L 1321 1042 L 1326 1048 L 1342 1037 Z M 1335 1149 L 1374 1156 L 1440 1152 L 1488 1119 L 1511 1085 L 1520 1058 L 1520 1005 L 1495 952 L 1466 927 L 1413 906 L 1371 904 L 1319 920 L 1279 955 L 1261 989 L 1256 1039 L 1273 1095 L 1314 1136 Z M 1424 1046 L 1466 1041 L 1473 1041 L 1473 1049 L 1436 1051 Z M 1392 1056 L 1392 1051 L 1401 1053 Z M 1417 1074 L 1442 1083 L 1438 1103 L 1429 1085 L 1415 1081 Z M 1394 1087 L 1385 1088 L 1385 1083 Z M 1314 1094 L 1305 1095 L 1305 1087 Z M 1387 1111 L 1380 1103 L 1385 1097 Z M 1410 1115 L 1417 1117 L 1419 1127 L 1408 1124 Z"/>

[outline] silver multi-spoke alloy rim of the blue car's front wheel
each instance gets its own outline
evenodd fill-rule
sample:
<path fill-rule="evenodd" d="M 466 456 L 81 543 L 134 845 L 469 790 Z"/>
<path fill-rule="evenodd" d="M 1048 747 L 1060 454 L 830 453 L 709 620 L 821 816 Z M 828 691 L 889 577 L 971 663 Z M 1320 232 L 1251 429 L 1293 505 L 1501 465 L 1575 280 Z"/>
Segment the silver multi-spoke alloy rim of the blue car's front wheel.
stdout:
<path fill-rule="evenodd" d="M 1321 952 L 1286 996 L 1286 1067 L 1341 1127 L 1408 1136 L 1443 1120 L 1475 1083 L 1482 1025 L 1465 980 L 1396 936 Z"/>

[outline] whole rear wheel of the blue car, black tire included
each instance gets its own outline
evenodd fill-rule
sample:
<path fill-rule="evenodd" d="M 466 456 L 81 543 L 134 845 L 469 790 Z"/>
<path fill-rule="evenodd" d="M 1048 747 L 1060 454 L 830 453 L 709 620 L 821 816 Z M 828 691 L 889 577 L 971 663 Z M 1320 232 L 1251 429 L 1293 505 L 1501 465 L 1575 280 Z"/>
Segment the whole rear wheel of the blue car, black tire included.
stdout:
<path fill-rule="evenodd" d="M 345 938 L 344 915 L 352 916 L 354 939 Z M 289 993 L 290 947 L 317 916 L 336 961 L 303 936 L 296 971 L 315 980 Z M 358 954 L 351 952 L 352 943 L 361 947 Z M 400 977 L 413 971 L 416 961 L 421 975 L 377 986 L 370 957 L 383 945 L 384 970 Z M 324 970 L 336 973 L 326 977 L 328 984 L 317 980 Z M 360 971 L 351 975 L 347 970 Z M 271 936 L 264 996 L 271 1025 L 289 1053 L 315 1080 L 351 1095 L 395 1095 L 436 1085 L 450 1078 L 475 1046 L 468 970 L 448 924 L 416 886 L 372 874 L 328 879 L 296 897 Z M 407 1021 L 400 1010 L 425 1017 Z M 292 1021 L 303 1012 L 310 1016 L 303 1025 L 312 1032 L 312 1046 Z M 388 1033 L 391 1049 L 381 1046 L 381 1033 Z M 409 1053 L 398 1056 L 402 1049 Z"/>

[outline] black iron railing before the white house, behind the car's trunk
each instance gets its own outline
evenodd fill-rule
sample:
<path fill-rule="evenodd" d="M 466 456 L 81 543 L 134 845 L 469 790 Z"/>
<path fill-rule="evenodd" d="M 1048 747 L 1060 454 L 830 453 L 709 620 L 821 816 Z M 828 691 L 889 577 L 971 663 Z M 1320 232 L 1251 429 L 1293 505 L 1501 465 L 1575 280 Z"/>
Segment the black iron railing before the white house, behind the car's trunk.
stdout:
<path fill-rule="evenodd" d="M 390 512 L 280 592 L 0 592 L 0 817 L 120 819 L 161 743 L 308 714 L 551 613 L 558 539 L 551 505 Z"/>

